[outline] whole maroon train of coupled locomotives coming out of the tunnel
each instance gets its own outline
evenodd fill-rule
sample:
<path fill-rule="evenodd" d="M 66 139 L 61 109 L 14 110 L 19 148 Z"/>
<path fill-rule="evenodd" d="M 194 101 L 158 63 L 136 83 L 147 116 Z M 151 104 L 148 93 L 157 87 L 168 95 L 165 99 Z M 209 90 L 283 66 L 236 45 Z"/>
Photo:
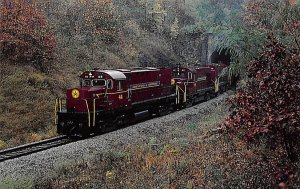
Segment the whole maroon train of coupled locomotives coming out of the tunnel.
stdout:
<path fill-rule="evenodd" d="M 227 87 L 224 66 L 186 68 L 93 69 L 68 89 L 66 104 L 55 105 L 57 132 L 88 136 L 133 118 L 164 115 L 214 97 Z"/>

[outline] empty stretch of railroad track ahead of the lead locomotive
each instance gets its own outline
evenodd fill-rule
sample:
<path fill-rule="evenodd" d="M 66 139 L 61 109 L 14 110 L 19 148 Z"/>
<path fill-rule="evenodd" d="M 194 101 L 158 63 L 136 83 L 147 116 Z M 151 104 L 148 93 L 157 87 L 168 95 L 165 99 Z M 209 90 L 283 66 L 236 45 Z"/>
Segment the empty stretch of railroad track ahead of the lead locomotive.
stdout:
<path fill-rule="evenodd" d="M 0 151 L 0 162 L 5 160 L 14 159 L 17 157 L 33 154 L 56 146 L 61 146 L 70 143 L 74 140 L 69 139 L 67 136 L 58 136 L 30 144 L 17 146 Z"/>

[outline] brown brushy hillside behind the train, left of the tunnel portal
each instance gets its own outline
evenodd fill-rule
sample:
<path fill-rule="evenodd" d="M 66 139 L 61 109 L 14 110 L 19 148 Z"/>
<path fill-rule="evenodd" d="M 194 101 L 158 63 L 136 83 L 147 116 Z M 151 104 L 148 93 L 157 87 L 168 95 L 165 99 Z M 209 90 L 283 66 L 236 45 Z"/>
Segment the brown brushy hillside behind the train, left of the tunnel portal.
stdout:
<path fill-rule="evenodd" d="M 43 23 L 48 24 L 55 46 L 51 60 L 46 62 L 34 58 L 30 61 L 18 59 L 24 55 L 21 53 L 22 46 L 18 47 L 19 50 L 8 46 L 9 52 L 1 49 L 0 149 L 55 136 L 55 98 L 65 97 L 67 88 L 78 86 L 78 76 L 82 71 L 184 63 L 184 57 L 175 52 L 175 38 L 171 36 L 170 28 L 175 17 L 178 27 L 183 27 L 184 21 L 192 20 L 184 12 L 176 15 L 183 7 L 166 1 L 170 5 L 168 22 L 162 24 L 151 17 L 150 10 L 158 6 L 154 1 L 97 2 L 100 4 L 37 1 L 36 6 L 20 5 L 19 9 L 24 9 L 24 12 L 19 19 L 30 21 L 34 15 L 26 10 L 35 10 L 43 18 Z M 18 10 L 18 7 L 14 8 Z M 0 6 L 0 10 L 9 11 L 4 5 Z M 7 20 L 1 21 L 10 26 Z M 176 35 L 178 27 L 172 29 Z M 31 35 L 26 33 L 31 28 L 20 28 L 25 30 L 24 36 Z M 36 33 L 41 31 L 40 28 L 35 30 Z M 3 34 L 0 35 L 3 37 Z M 31 41 L 26 40 L 24 43 L 30 44 Z M 14 44 L 15 41 L 9 43 Z"/>

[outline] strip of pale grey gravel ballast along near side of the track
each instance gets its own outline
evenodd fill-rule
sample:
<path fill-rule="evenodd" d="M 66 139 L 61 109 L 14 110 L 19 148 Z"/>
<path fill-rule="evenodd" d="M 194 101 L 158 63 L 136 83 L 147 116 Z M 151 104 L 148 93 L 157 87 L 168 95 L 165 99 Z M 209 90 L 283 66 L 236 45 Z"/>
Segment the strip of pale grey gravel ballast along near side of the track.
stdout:
<path fill-rule="evenodd" d="M 163 135 L 174 129 L 176 122 L 201 116 L 211 107 L 223 102 L 227 96 L 228 94 L 224 93 L 208 102 L 176 111 L 164 117 L 154 118 L 104 135 L 1 162 L 0 180 L 5 177 L 12 179 L 44 177 L 54 174 L 54 169 L 59 164 L 85 158 L 95 151 L 105 152 L 122 145 L 145 143 L 151 137 Z"/>

